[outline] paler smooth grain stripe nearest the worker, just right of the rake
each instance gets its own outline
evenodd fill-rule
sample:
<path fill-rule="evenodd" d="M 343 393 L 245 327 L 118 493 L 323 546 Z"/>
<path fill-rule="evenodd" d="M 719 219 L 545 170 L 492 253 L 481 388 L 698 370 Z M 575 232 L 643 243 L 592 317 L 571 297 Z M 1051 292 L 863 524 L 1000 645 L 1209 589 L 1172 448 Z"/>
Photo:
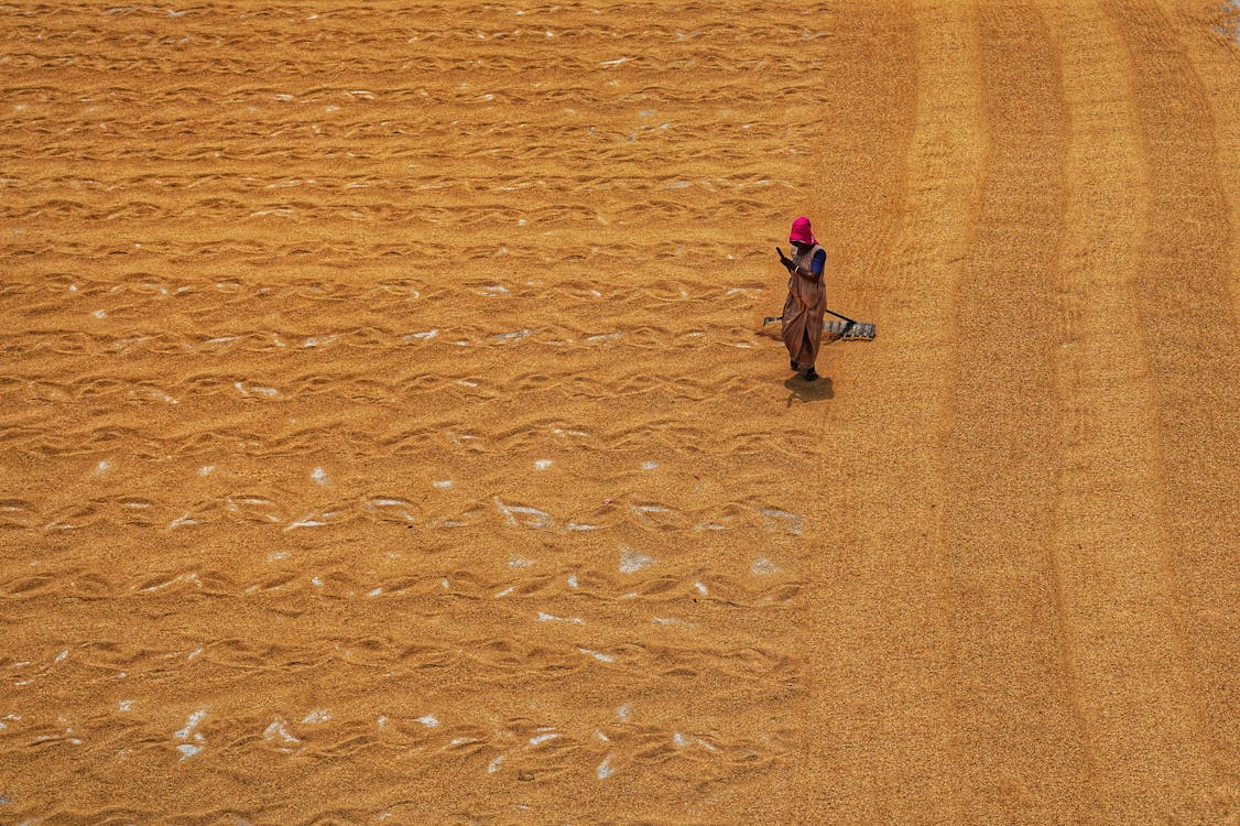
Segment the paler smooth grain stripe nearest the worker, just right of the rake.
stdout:
<path fill-rule="evenodd" d="M 874 603 L 864 621 L 890 633 L 890 641 L 867 640 L 867 652 L 853 656 L 873 673 L 883 672 L 882 662 L 905 656 L 919 664 L 903 680 L 884 681 L 884 702 L 899 707 L 900 716 L 884 721 L 883 731 L 894 743 L 868 770 L 883 778 L 885 810 L 857 819 L 959 822 L 967 799 L 961 778 L 967 758 L 960 749 L 952 697 L 960 665 L 949 549 L 937 527 L 945 501 L 942 433 L 929 423 L 941 420 L 949 401 L 952 301 L 972 238 L 985 113 L 975 10 L 924 2 L 904 14 L 915 25 L 916 78 L 903 222 L 899 232 L 887 236 L 890 258 L 879 258 L 883 265 L 872 265 L 864 280 L 867 298 L 877 305 L 882 346 L 847 358 L 858 377 L 853 415 L 893 451 L 874 466 L 866 451 L 848 455 L 843 448 L 842 463 L 852 473 L 846 471 L 849 484 L 833 499 L 839 502 L 836 510 L 856 515 L 838 528 L 843 547 L 837 553 L 847 568 L 867 572 L 859 577 L 864 584 L 853 583 L 851 593 Z M 877 165 L 888 164 L 895 165 Z M 875 187 L 877 197 L 890 193 L 887 186 Z M 906 300 L 909 295 L 916 301 Z M 883 516 L 890 512 L 904 516 L 893 522 Z"/>

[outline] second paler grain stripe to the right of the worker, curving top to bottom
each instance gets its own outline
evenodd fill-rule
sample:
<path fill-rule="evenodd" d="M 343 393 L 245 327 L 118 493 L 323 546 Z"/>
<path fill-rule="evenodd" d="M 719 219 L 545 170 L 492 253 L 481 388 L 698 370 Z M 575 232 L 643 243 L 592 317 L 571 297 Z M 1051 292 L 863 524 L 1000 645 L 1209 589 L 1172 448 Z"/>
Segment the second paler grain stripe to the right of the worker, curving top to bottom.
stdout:
<path fill-rule="evenodd" d="M 1054 10 L 1063 31 L 1071 123 L 1058 353 L 1059 479 L 1055 554 L 1069 639 L 1107 822 L 1149 822 L 1208 785 L 1203 732 L 1179 650 L 1167 582 L 1164 494 L 1131 282 L 1130 238 L 1148 221 L 1132 134 L 1127 55 L 1097 7 Z M 1110 192 L 1135 193 L 1116 201 Z M 1110 481 L 1100 481 L 1110 480 Z M 1099 640 L 1106 640 L 1099 645 Z M 1176 776 L 1173 784 L 1161 779 Z M 1185 779 L 1188 785 L 1184 785 Z"/>

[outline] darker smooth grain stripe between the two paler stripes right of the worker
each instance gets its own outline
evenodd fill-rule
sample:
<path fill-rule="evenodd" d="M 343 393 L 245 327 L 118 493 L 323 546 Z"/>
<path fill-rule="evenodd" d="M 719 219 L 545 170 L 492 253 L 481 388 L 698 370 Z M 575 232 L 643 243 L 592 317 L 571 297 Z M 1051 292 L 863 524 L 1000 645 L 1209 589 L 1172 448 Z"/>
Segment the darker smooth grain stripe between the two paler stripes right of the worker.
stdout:
<path fill-rule="evenodd" d="M 1052 284 L 1065 202 L 1058 47 L 1037 9 L 978 14 L 986 180 L 956 303 L 944 521 L 955 585 L 965 822 L 1095 810 L 1065 635 Z M 1069 814 L 1071 812 L 1071 814 Z"/>

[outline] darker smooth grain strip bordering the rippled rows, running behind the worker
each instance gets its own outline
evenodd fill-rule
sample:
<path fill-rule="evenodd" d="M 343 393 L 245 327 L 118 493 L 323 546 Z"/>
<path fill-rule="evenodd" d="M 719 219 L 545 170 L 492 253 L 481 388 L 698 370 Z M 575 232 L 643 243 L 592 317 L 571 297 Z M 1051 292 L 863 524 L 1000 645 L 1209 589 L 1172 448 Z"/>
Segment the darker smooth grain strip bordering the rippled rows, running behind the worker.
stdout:
<path fill-rule="evenodd" d="M 883 325 L 887 316 L 867 313 L 883 300 L 887 278 L 880 274 L 892 265 L 893 238 L 905 217 L 904 159 L 916 115 L 915 21 L 899 2 L 847 4 L 838 14 L 847 35 L 815 51 L 847 69 L 813 112 L 805 193 L 789 203 L 787 215 L 811 216 L 828 251 L 827 305 Z M 877 526 L 864 518 L 848 525 L 839 517 L 892 484 L 887 469 L 872 466 L 857 450 L 889 424 L 882 406 L 875 409 L 874 394 L 862 387 L 862 377 L 880 373 L 880 358 L 823 347 L 817 370 L 843 398 L 790 407 L 816 438 L 792 469 L 780 471 L 790 482 L 813 480 L 806 495 L 817 500 L 815 521 L 831 537 L 806 562 L 812 630 L 797 647 L 822 651 L 813 672 L 822 688 L 806 718 L 807 733 L 825 734 L 802 759 L 807 773 L 822 778 L 822 786 L 807 796 L 811 817 L 832 822 L 908 819 L 939 780 L 932 769 L 925 776 L 926 766 L 911 754 L 925 735 L 918 677 L 882 666 L 901 656 L 897 651 L 920 647 L 901 620 L 910 611 L 901 605 L 898 616 L 893 610 L 909 583 L 893 574 L 892 548 L 878 540 Z M 813 397 L 812 388 L 807 396 Z M 856 439 L 833 438 L 839 427 L 856 428 Z M 910 748 L 914 742 L 919 747 Z"/>

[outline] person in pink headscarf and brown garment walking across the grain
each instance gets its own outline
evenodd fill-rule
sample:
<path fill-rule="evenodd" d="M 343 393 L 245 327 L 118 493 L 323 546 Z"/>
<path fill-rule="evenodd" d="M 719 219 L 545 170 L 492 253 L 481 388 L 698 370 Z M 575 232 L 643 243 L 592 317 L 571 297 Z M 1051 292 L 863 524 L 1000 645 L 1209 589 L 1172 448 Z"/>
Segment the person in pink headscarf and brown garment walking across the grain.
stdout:
<path fill-rule="evenodd" d="M 810 220 L 804 215 L 792 222 L 787 241 L 792 257 L 776 247 L 780 263 L 787 268 L 787 300 L 784 301 L 784 346 L 792 358 L 791 368 L 805 371 L 805 381 L 818 378 L 813 362 L 822 344 L 822 315 L 827 309 L 827 288 L 822 273 L 827 267 L 827 251 L 813 237 Z"/>

